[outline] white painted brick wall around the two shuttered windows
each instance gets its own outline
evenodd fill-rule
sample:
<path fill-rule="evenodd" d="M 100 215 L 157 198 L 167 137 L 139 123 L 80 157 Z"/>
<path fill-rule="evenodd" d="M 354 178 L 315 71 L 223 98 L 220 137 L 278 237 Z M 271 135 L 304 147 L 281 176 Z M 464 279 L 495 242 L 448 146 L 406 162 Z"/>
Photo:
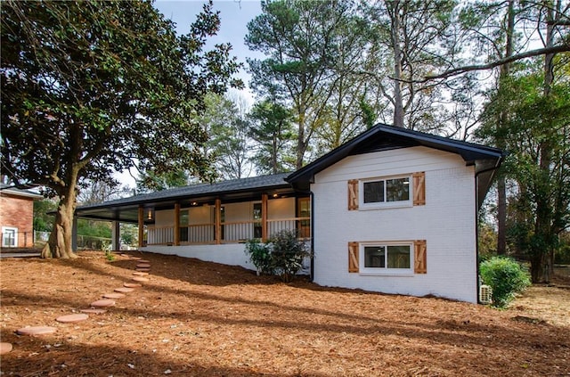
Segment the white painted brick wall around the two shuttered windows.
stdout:
<path fill-rule="evenodd" d="M 426 172 L 426 205 L 347 210 L 347 181 Z M 426 147 L 351 156 L 315 176 L 314 281 L 326 286 L 476 302 L 474 168 Z M 362 194 L 362 193 L 361 193 Z M 428 274 L 348 273 L 348 242 L 427 240 Z"/>

